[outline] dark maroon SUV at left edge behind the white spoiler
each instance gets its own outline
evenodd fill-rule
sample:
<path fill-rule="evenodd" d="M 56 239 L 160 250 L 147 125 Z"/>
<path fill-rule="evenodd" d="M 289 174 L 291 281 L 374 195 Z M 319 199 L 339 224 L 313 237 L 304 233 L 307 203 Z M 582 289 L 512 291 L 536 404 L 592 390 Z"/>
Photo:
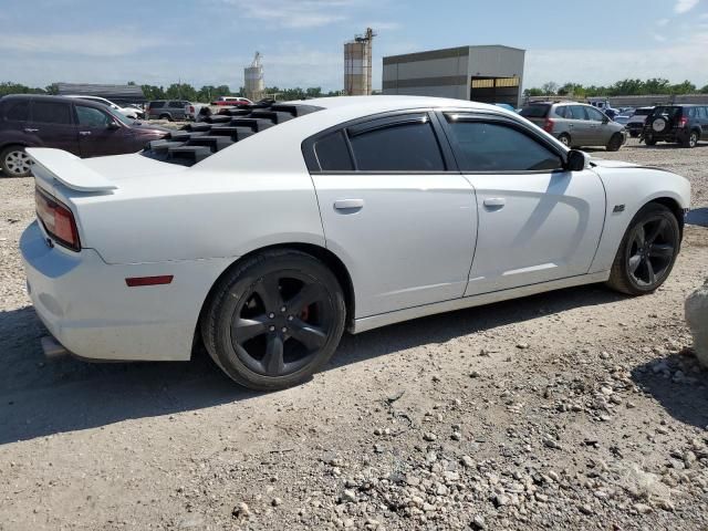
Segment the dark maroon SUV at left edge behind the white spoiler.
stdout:
<path fill-rule="evenodd" d="M 15 94 L 0 98 L 0 168 L 30 175 L 25 147 L 55 147 L 80 157 L 139 152 L 168 129 L 143 125 L 101 103 L 62 96 Z"/>

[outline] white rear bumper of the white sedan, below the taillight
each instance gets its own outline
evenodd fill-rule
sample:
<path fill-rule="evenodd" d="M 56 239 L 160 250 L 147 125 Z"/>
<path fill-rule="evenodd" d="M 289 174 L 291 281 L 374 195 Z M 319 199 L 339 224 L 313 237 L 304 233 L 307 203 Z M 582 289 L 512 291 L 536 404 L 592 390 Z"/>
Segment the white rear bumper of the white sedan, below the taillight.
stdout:
<path fill-rule="evenodd" d="M 189 360 L 201 304 L 228 266 L 194 260 L 106 264 L 93 249 L 50 247 L 37 222 L 20 239 L 28 292 L 56 341 L 87 360 Z M 174 274 L 166 285 L 125 279 Z"/>

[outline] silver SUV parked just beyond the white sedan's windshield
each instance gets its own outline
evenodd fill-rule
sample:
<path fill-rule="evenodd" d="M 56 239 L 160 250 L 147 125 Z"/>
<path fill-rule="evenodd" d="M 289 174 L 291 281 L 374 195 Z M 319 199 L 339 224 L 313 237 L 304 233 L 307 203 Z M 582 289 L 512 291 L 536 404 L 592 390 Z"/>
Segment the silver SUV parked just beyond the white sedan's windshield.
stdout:
<path fill-rule="evenodd" d="M 622 124 L 583 103 L 531 103 L 519 114 L 569 147 L 604 146 L 608 152 L 616 152 L 627 140 Z"/>

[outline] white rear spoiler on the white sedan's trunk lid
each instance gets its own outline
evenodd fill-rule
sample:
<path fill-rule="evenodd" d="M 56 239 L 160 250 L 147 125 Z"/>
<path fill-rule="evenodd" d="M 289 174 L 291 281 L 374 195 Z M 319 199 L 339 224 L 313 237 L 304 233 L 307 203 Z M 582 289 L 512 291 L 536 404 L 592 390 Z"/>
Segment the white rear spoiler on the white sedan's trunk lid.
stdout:
<path fill-rule="evenodd" d="M 32 174 L 44 180 L 59 180 L 77 191 L 114 190 L 117 186 L 103 175 L 87 167 L 81 158 L 62 149 L 29 147 L 28 155 L 34 163 Z"/>

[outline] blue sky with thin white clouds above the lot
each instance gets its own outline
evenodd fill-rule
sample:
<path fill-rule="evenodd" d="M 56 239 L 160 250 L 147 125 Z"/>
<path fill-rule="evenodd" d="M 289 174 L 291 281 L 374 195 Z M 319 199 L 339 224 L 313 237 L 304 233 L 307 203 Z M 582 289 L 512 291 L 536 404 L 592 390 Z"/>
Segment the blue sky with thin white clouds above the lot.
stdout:
<path fill-rule="evenodd" d="M 382 58 L 467 44 L 527 50 L 524 87 L 666 77 L 708 84 L 708 0 L 0 0 L 0 81 L 343 87 L 343 44 Z"/>

